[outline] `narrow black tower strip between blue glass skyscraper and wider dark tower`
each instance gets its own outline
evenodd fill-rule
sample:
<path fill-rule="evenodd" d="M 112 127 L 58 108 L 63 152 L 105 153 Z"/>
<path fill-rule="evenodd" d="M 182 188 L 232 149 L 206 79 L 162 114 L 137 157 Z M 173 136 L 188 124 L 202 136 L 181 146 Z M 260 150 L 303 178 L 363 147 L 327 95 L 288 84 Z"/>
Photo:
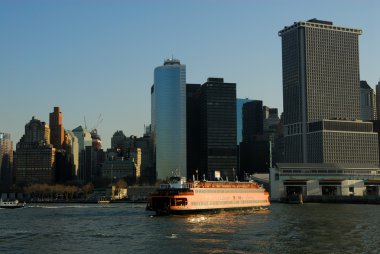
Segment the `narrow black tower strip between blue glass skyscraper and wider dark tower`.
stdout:
<path fill-rule="evenodd" d="M 186 84 L 187 178 L 199 179 L 201 137 L 201 85 Z"/>

